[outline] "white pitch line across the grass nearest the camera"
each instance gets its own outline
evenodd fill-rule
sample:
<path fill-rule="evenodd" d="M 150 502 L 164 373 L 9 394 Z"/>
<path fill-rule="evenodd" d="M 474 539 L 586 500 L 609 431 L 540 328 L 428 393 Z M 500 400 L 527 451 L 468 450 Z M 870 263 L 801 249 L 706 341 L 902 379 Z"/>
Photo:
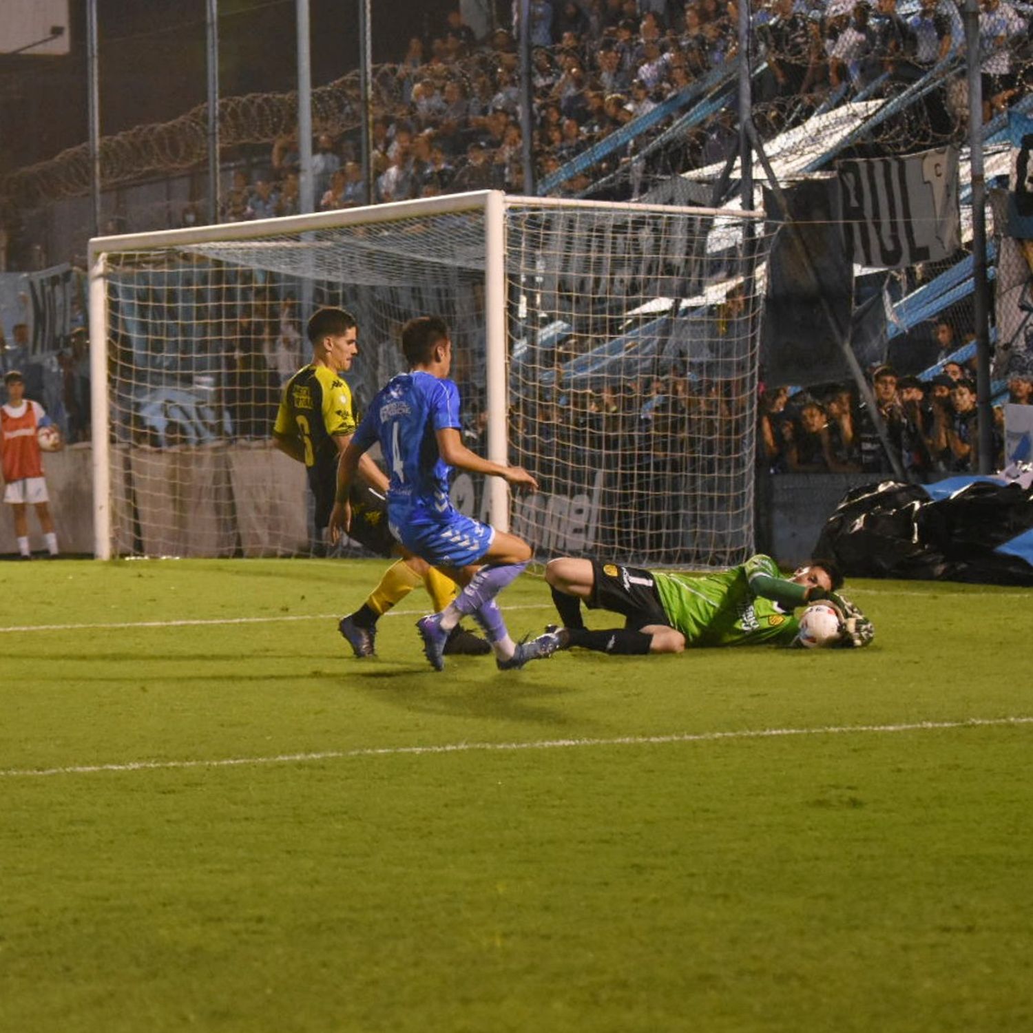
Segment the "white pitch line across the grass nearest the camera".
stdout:
<path fill-rule="evenodd" d="M 585 746 L 663 746 L 671 743 L 714 743 L 735 739 L 779 739 L 790 735 L 849 735 L 869 732 L 940 731 L 952 728 L 987 728 L 1033 724 L 1033 717 L 967 718 L 964 721 L 917 721 L 911 724 L 827 725 L 819 728 L 760 728 L 740 731 L 703 731 L 674 735 L 621 735 L 617 739 L 546 739 L 530 743 L 445 743 L 440 746 L 384 746 L 318 753 L 281 753 L 272 757 L 226 757 L 217 760 L 134 760 L 123 764 L 81 764 L 70 768 L 8 769 L 0 778 L 46 775 L 94 775 L 99 772 L 138 772 L 188 768 L 248 768 L 262 764 L 311 763 L 353 757 L 422 756 L 435 753 L 512 752 L 515 750 L 566 750 Z"/>

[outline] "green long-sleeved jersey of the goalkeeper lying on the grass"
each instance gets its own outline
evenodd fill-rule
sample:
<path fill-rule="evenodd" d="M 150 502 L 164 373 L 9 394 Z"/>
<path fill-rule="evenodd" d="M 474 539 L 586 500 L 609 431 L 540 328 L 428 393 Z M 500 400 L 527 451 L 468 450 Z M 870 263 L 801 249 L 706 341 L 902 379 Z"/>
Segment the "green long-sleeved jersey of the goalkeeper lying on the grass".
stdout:
<path fill-rule="evenodd" d="M 717 574 L 651 571 L 672 628 L 687 646 L 789 643 L 799 630 L 794 606 L 807 589 L 779 573 L 770 556 L 753 556 Z"/>

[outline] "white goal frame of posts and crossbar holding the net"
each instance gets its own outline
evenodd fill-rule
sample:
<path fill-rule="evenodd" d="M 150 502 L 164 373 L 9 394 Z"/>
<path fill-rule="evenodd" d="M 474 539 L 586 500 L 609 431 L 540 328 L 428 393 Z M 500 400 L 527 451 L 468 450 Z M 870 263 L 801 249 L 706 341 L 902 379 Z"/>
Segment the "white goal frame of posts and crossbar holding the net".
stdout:
<path fill-rule="evenodd" d="M 109 437 L 108 384 L 108 304 L 105 289 L 109 256 L 132 251 L 147 252 L 180 245 L 217 242 L 246 242 L 273 234 L 303 233 L 363 224 L 386 223 L 420 216 L 456 213 L 482 213 L 484 220 L 484 318 L 486 318 L 486 402 L 488 410 L 487 453 L 494 462 L 505 464 L 509 453 L 507 409 L 507 275 L 506 210 L 510 207 L 603 209 L 633 215 L 660 214 L 698 220 L 725 217 L 742 223 L 745 219 L 762 220 L 762 213 L 724 209 L 682 208 L 665 205 L 573 200 L 550 197 L 507 195 L 499 190 L 473 191 L 440 197 L 420 198 L 355 209 L 335 210 L 310 215 L 261 219 L 250 222 L 221 223 L 209 226 L 169 229 L 154 232 L 125 233 L 94 238 L 89 242 L 89 327 L 92 401 L 92 481 L 94 557 L 107 560 L 113 555 L 113 503 L 111 497 L 112 447 Z M 414 315 L 417 313 L 413 313 Z M 487 512 L 499 530 L 509 529 L 510 500 L 508 486 L 498 477 L 486 478 Z"/>

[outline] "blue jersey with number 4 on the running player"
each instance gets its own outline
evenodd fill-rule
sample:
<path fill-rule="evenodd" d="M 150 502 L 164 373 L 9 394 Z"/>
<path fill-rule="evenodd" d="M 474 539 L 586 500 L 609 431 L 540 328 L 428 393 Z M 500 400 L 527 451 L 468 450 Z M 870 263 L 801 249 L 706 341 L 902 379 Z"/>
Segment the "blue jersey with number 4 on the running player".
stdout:
<path fill-rule="evenodd" d="M 449 507 L 451 467 L 438 451 L 437 432 L 459 430 L 459 389 L 416 370 L 381 388 L 355 432 L 361 448 L 380 442 L 390 477 L 388 510 L 442 513 Z"/>

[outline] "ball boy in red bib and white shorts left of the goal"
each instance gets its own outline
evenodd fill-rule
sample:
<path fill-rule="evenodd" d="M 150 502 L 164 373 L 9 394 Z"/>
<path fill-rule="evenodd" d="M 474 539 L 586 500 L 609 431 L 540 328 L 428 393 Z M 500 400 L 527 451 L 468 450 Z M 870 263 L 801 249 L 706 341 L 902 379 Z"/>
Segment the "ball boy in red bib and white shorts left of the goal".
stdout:
<path fill-rule="evenodd" d="M 38 438 L 39 429 L 52 427 L 54 421 L 38 402 L 25 397 L 25 378 L 18 370 L 9 370 L 3 382 L 7 402 L 0 406 L 0 470 L 3 471 L 3 500 L 14 516 L 19 557 L 32 559 L 27 509 L 32 505 L 43 532 L 48 555 L 54 558 L 58 555 L 58 538 L 49 506 Z"/>

